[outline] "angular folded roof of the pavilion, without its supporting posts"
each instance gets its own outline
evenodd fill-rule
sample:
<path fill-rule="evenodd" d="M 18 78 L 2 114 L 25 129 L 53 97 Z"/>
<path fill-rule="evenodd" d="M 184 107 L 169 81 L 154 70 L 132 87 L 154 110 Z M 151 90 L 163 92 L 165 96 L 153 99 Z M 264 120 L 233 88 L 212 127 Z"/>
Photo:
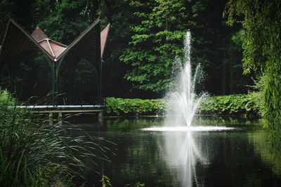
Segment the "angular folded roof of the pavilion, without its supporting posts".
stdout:
<path fill-rule="evenodd" d="M 75 39 L 70 46 L 53 41 L 37 27 L 27 34 L 18 23 L 10 20 L 0 50 L 0 67 L 19 57 L 31 55 L 34 51 L 43 52 L 49 60 L 74 62 L 81 57 L 93 63 L 99 63 L 103 57 L 110 25 L 100 33 L 100 20 L 93 22 Z"/>

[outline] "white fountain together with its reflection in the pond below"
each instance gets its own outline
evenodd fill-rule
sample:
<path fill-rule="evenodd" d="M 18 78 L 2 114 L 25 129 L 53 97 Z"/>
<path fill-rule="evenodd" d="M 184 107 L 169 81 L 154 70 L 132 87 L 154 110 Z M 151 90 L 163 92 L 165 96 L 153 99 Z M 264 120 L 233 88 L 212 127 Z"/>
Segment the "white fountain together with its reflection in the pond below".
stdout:
<path fill-rule="evenodd" d="M 168 110 L 162 127 L 143 128 L 144 131 L 161 131 L 157 140 L 162 157 L 174 173 L 174 186 L 204 186 L 204 180 L 197 177 L 197 166 L 207 165 L 208 152 L 202 151 L 200 136 L 203 132 L 233 130 L 233 127 L 200 126 L 192 124 L 200 101 L 206 94 L 195 94 L 200 64 L 192 76 L 190 64 L 190 32 L 185 35 L 184 55 L 174 60 L 172 79 L 174 86 L 167 92 L 165 99 Z M 184 66 L 182 66 L 184 64 Z M 200 132 L 200 133 L 199 133 Z M 197 137 L 195 139 L 195 137 Z M 199 171 L 200 172 L 200 171 Z"/>

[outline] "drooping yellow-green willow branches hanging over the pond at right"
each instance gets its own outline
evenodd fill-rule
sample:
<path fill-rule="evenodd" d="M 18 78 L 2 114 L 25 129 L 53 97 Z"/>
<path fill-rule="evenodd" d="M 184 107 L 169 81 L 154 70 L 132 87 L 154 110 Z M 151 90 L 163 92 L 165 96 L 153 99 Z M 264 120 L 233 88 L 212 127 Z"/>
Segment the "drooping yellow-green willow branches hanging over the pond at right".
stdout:
<path fill-rule="evenodd" d="M 263 116 L 274 138 L 281 140 L 281 1 L 229 1 L 230 25 L 242 16 L 244 73 L 254 72 L 263 83 Z"/>

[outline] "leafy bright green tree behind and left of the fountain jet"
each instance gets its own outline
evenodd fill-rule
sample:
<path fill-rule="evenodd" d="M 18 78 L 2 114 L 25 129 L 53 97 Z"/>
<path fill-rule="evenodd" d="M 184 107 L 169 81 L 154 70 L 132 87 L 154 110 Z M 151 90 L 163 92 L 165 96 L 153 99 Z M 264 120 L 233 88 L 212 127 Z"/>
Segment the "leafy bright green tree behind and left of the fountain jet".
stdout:
<path fill-rule="evenodd" d="M 131 66 L 125 78 L 136 88 L 161 92 L 169 87 L 174 57 L 183 53 L 183 36 L 188 28 L 200 27 L 192 18 L 204 11 L 204 3 L 157 0 L 130 5 L 138 22 L 131 26 L 129 48 L 120 57 Z"/>

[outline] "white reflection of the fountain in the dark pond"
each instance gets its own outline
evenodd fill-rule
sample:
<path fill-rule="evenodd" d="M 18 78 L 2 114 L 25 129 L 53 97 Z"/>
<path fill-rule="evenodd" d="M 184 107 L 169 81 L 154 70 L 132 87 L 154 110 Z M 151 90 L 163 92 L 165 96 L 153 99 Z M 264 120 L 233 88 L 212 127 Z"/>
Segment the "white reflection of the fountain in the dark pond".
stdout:
<path fill-rule="evenodd" d="M 200 141 L 195 141 L 192 132 L 163 132 L 162 138 L 164 144 L 159 145 L 160 151 L 179 186 L 202 186 L 202 181 L 197 179 L 196 165 L 206 164 L 207 155 L 203 157 Z"/>

